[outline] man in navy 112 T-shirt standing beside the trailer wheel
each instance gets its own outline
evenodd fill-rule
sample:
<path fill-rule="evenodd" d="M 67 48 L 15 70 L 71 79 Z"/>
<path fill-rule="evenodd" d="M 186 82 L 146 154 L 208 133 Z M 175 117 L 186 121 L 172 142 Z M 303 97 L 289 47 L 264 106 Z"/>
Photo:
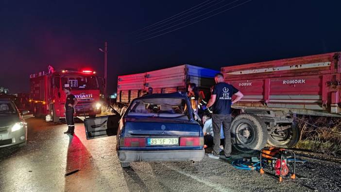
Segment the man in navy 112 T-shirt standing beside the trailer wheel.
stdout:
<path fill-rule="evenodd" d="M 226 159 L 231 158 L 231 105 L 238 102 L 244 95 L 235 87 L 224 82 L 224 76 L 222 73 L 215 75 L 214 80 L 216 85 L 213 88 L 210 100 L 207 103 L 207 107 L 213 105 L 212 124 L 213 124 L 213 142 L 214 147 L 212 154 L 208 154 L 208 157 L 219 159 L 220 149 L 220 129 L 223 126 L 223 132 L 225 136 L 224 143 L 224 155 Z M 232 100 L 232 95 L 237 97 Z"/>

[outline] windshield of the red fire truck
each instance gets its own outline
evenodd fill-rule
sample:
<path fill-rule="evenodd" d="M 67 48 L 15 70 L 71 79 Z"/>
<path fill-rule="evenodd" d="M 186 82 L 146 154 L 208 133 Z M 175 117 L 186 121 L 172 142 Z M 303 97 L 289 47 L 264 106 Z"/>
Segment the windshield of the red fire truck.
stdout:
<path fill-rule="evenodd" d="M 72 90 L 98 89 L 98 80 L 96 76 L 72 75 L 62 77 L 62 85 L 68 85 Z"/>

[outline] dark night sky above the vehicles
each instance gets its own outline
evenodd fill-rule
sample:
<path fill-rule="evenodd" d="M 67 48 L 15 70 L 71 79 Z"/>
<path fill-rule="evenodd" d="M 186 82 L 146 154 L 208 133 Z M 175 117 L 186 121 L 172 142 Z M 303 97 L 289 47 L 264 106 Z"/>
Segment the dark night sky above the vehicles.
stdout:
<path fill-rule="evenodd" d="M 8 87 L 12 93 L 29 92 L 29 74 L 47 70 L 49 64 L 58 70 L 91 67 L 102 76 L 103 53 L 98 48 L 105 40 L 109 51 L 108 93 L 116 92 L 121 74 L 181 64 L 219 70 L 223 66 L 341 51 L 340 0 L 252 0 L 136 43 L 246 0 L 192 19 L 232 2 L 211 1 L 0 0 L 0 87 Z M 156 27 L 163 30 L 191 21 L 150 36 L 133 33 L 203 2 L 209 4 L 198 10 L 212 6 Z M 142 38 L 136 38 L 138 35 Z"/>

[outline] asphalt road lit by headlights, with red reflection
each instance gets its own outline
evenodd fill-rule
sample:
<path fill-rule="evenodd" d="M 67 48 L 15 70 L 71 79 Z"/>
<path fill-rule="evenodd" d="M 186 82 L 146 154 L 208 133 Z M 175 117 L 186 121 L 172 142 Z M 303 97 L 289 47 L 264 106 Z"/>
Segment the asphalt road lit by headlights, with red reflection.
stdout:
<path fill-rule="evenodd" d="M 308 161 L 298 164 L 297 179 L 282 183 L 207 155 L 196 164 L 139 162 L 122 169 L 116 137 L 86 140 L 83 123 L 72 137 L 63 134 L 65 124 L 27 122 L 27 146 L 0 148 L 0 191 L 341 191 L 340 157 L 298 151 Z"/>

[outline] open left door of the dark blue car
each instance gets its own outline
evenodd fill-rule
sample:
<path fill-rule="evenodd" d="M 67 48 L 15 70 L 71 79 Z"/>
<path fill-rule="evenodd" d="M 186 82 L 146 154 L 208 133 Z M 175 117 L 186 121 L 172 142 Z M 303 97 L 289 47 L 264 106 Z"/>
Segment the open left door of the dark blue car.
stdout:
<path fill-rule="evenodd" d="M 96 139 L 117 135 L 119 128 L 119 113 L 101 117 L 86 118 L 84 120 L 86 139 Z"/>

